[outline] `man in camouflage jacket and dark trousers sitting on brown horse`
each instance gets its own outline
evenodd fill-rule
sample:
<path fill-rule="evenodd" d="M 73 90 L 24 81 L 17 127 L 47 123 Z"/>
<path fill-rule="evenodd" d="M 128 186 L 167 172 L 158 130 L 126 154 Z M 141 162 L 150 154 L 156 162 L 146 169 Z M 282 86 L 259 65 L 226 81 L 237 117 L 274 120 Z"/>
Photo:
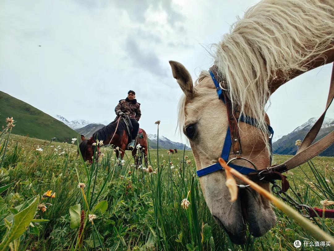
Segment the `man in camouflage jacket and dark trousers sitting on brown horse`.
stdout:
<path fill-rule="evenodd" d="M 135 139 L 139 131 L 139 119 L 142 115 L 140 111 L 140 103 L 135 99 L 136 93 L 133 90 L 128 91 L 128 97 L 126 99 L 121 99 L 118 105 L 115 107 L 116 119 L 122 116 L 129 116 L 132 123 L 132 133 L 131 133 L 131 142 L 128 145 L 128 149 L 132 150 L 135 148 Z"/>

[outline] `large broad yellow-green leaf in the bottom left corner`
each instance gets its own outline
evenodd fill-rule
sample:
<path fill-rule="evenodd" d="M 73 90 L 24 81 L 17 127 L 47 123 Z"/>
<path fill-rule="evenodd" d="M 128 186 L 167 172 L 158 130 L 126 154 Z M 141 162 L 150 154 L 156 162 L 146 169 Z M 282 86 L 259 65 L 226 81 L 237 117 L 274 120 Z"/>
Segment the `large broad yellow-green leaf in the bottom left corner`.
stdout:
<path fill-rule="evenodd" d="M 13 241 L 19 238 L 29 226 L 31 220 L 33 219 L 39 199 L 34 197 L 32 202 L 24 208 L 21 212 L 14 215 L 12 226 L 4 237 L 3 241 L 0 243 L 0 250 L 5 250 L 5 248 Z"/>

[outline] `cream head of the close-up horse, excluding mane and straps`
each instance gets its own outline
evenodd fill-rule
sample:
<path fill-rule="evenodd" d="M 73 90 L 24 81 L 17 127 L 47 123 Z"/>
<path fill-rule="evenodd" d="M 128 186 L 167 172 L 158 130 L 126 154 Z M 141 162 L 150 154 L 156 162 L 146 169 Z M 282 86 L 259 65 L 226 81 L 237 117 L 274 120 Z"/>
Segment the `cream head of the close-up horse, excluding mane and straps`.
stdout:
<path fill-rule="evenodd" d="M 215 85 L 209 73 L 201 74 L 194 86 L 186 68 L 170 61 L 173 77 L 185 96 L 180 100 L 179 123 L 190 142 L 197 170 L 214 164 L 220 157 L 228 128 L 225 104 L 218 99 Z M 266 118 L 269 123 L 268 117 Z M 270 166 L 266 143 L 258 130 L 246 123 L 239 123 L 242 157 L 251 160 L 258 170 Z M 229 159 L 235 157 L 232 149 Z M 236 160 L 233 164 L 253 168 L 251 164 Z M 214 219 L 224 227 L 234 243 L 245 242 L 245 223 L 253 236 L 262 236 L 275 224 L 276 218 L 269 201 L 250 188 L 230 202 L 225 185 L 225 173 L 217 171 L 199 178 L 205 201 Z M 238 181 L 237 181 L 238 182 Z M 242 184 L 239 181 L 239 184 Z M 259 183 L 269 190 L 269 183 Z"/>

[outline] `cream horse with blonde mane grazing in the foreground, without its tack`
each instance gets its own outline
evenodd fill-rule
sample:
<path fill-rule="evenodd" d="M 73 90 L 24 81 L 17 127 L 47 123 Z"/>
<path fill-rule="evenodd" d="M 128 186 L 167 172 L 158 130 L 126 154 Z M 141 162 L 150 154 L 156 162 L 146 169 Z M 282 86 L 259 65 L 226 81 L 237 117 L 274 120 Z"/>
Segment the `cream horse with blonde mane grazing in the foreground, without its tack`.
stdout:
<path fill-rule="evenodd" d="M 268 135 L 263 130 L 269 124 L 265 104 L 288 80 L 334 61 L 333 17 L 333 1 L 262 1 L 249 9 L 217 45 L 214 64 L 226 80 L 232 105 L 240 115 L 258 121 L 256 126 L 238 124 L 242 157 L 251 160 L 258 170 L 271 165 Z M 184 92 L 179 123 L 199 170 L 220 157 L 228 128 L 226 106 L 218 99 L 209 72 L 202 71 L 194 85 L 182 64 L 170 61 L 170 65 Z M 229 159 L 233 157 L 231 150 Z M 253 168 L 242 160 L 235 164 Z M 223 171 L 199 180 L 212 216 L 233 243 L 245 242 L 246 222 L 253 236 L 264 235 L 275 224 L 269 201 L 250 188 L 230 202 Z M 269 183 L 258 183 L 269 190 Z"/>

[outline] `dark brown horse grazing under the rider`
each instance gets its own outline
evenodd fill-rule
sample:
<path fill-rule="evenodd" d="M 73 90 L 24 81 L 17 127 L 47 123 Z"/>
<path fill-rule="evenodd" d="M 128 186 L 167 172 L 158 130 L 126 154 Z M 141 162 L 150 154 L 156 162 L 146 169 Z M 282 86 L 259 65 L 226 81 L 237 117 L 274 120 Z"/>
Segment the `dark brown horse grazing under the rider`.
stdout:
<path fill-rule="evenodd" d="M 115 132 L 116 130 L 116 132 Z M 135 160 L 135 166 L 138 167 L 141 163 L 143 163 L 143 157 L 145 159 L 145 166 L 148 166 L 147 159 L 147 134 L 143 129 L 139 129 L 143 134 L 143 138 L 137 137 L 135 142 L 135 148 L 132 150 L 132 156 Z M 116 151 L 116 157 L 121 156 L 121 159 L 124 157 L 125 150 L 127 149 L 129 136 L 127 134 L 126 123 L 123 118 L 119 118 L 116 121 L 108 124 L 107 126 L 96 131 L 92 137 L 89 139 L 85 139 L 85 136 L 81 135 L 82 142 L 79 145 L 79 149 L 81 155 L 85 161 L 89 161 L 92 163 L 92 157 L 94 156 L 94 151 L 96 146 L 93 146 L 96 143 L 96 140 L 103 141 L 105 145 L 112 144 L 114 148 L 119 147 L 119 150 Z M 136 146 L 140 144 L 140 147 Z M 97 147 L 99 149 L 99 147 Z M 140 155 L 138 156 L 137 150 L 139 150 Z M 99 152 L 99 151 L 98 151 Z M 98 154 L 98 156 L 100 153 Z"/>

